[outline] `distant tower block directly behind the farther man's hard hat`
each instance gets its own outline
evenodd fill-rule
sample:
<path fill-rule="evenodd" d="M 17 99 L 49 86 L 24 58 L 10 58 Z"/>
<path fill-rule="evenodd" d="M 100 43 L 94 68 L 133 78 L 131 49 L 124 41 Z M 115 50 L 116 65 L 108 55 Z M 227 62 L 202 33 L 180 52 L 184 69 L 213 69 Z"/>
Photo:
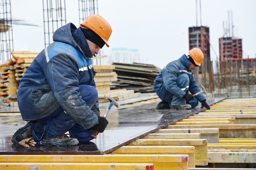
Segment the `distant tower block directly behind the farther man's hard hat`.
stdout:
<path fill-rule="evenodd" d="M 199 67 L 199 73 L 202 72 L 202 68 L 207 70 L 207 63 L 210 60 L 210 36 L 209 36 L 209 27 L 206 26 L 197 26 L 188 28 L 189 35 L 189 50 L 192 48 L 198 47 L 203 51 L 204 60 L 201 67 Z M 208 40 L 207 40 L 208 39 Z M 206 63 L 206 67 L 203 66 L 203 63 Z"/>

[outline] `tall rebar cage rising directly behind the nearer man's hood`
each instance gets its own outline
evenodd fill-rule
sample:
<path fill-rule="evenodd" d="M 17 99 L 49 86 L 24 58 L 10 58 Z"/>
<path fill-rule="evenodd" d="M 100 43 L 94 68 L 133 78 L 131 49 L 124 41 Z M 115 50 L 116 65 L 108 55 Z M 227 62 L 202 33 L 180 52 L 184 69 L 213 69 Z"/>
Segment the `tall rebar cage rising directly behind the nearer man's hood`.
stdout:
<path fill-rule="evenodd" d="M 43 0 L 43 27 L 45 47 L 53 42 L 53 33 L 66 25 L 65 0 Z"/>

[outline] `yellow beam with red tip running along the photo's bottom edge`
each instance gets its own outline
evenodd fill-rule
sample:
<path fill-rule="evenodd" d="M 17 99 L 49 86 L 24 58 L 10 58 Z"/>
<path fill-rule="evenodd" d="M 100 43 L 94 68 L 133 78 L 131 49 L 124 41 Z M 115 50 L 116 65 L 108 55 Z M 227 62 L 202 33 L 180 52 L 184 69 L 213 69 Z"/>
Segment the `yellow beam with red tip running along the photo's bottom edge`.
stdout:
<path fill-rule="evenodd" d="M 43 162 L 15 162 L 15 163 L 0 163 L 0 169 L 13 170 L 13 169 L 40 169 L 40 170 L 154 170 L 154 164 L 146 163 L 43 163 Z"/>

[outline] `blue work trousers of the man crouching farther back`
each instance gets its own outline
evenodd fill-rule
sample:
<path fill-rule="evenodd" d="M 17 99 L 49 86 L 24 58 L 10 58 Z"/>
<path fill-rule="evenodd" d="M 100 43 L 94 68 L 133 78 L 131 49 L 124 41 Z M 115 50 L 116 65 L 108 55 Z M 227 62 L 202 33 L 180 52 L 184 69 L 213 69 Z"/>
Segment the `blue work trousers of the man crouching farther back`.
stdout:
<path fill-rule="evenodd" d="M 181 90 L 188 93 L 189 76 L 187 74 L 179 75 L 177 77 L 177 84 L 178 84 L 178 87 L 181 88 Z M 177 96 L 174 96 L 166 89 L 165 89 L 165 97 L 163 101 L 168 102 L 170 107 L 171 105 L 179 106 L 179 105 L 190 104 L 191 108 L 195 108 L 198 105 L 198 100 L 195 97 L 193 100 L 186 102 L 184 98 L 179 98 Z"/>

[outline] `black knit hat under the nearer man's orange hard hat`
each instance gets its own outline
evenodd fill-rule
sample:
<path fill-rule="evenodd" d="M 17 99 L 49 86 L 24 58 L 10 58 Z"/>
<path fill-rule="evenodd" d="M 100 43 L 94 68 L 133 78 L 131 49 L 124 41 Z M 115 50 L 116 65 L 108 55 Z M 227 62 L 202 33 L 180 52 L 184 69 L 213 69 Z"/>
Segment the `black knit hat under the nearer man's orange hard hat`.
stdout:
<path fill-rule="evenodd" d="M 93 42 L 94 44 L 98 45 L 100 48 L 102 48 L 105 44 L 105 41 L 97 35 L 95 32 L 93 32 L 91 29 L 81 29 L 83 34 L 85 35 L 85 38 Z"/>

